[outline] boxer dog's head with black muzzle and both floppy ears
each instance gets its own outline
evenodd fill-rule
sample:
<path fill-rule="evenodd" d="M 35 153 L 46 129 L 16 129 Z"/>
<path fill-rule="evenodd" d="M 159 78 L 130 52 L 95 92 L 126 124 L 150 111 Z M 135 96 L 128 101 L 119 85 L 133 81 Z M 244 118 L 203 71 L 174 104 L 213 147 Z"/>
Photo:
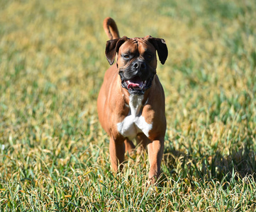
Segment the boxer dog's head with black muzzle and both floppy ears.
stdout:
<path fill-rule="evenodd" d="M 116 53 L 116 65 L 123 88 L 130 94 L 143 95 L 152 85 L 157 69 L 157 57 L 165 64 L 168 50 L 165 40 L 151 37 L 128 38 L 126 36 L 106 42 L 106 59 L 113 64 Z"/>

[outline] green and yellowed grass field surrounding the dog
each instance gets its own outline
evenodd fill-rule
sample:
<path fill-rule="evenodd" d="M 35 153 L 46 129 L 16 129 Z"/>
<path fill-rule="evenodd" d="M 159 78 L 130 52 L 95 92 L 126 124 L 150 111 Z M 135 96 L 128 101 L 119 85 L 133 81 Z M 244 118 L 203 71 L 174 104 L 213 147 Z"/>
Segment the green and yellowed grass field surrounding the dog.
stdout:
<path fill-rule="evenodd" d="M 146 153 L 111 171 L 107 16 L 167 42 L 157 186 Z M 256 1 L 0 1 L 0 211 L 255 210 Z"/>

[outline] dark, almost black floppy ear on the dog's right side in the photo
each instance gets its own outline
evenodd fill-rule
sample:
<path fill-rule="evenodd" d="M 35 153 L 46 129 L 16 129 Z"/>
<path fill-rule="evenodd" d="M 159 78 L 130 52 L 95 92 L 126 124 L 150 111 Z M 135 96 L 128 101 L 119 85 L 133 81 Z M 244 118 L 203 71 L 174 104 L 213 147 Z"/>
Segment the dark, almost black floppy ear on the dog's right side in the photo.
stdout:
<path fill-rule="evenodd" d="M 165 64 L 168 56 L 168 49 L 167 45 L 165 44 L 165 40 L 163 40 L 162 38 L 148 36 L 148 41 L 151 42 L 155 49 L 157 49 L 157 54 L 161 61 L 161 64 Z"/>

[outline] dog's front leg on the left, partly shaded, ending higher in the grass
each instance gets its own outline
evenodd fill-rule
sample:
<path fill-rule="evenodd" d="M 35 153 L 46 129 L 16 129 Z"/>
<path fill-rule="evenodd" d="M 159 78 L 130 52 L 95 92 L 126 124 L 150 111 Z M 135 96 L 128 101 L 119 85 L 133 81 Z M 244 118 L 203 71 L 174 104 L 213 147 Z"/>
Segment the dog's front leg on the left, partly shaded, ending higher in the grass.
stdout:
<path fill-rule="evenodd" d="M 122 170 L 124 160 L 124 153 L 126 151 L 126 146 L 124 141 L 114 140 L 111 137 L 109 141 L 109 153 L 111 158 L 111 167 L 115 172 L 118 172 L 118 166 L 120 165 L 120 170 Z"/>

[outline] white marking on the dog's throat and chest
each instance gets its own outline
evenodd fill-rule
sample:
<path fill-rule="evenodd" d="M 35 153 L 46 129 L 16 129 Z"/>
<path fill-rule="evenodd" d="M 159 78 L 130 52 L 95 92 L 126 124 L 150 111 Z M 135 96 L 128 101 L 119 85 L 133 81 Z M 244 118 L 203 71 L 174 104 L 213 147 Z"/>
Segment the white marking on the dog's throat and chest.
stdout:
<path fill-rule="evenodd" d="M 130 95 L 129 114 L 123 119 L 123 122 L 117 124 L 118 132 L 128 139 L 134 139 L 140 132 L 148 137 L 148 133 L 152 129 L 152 124 L 148 124 L 145 117 L 141 116 L 142 100 L 143 96 Z"/>

